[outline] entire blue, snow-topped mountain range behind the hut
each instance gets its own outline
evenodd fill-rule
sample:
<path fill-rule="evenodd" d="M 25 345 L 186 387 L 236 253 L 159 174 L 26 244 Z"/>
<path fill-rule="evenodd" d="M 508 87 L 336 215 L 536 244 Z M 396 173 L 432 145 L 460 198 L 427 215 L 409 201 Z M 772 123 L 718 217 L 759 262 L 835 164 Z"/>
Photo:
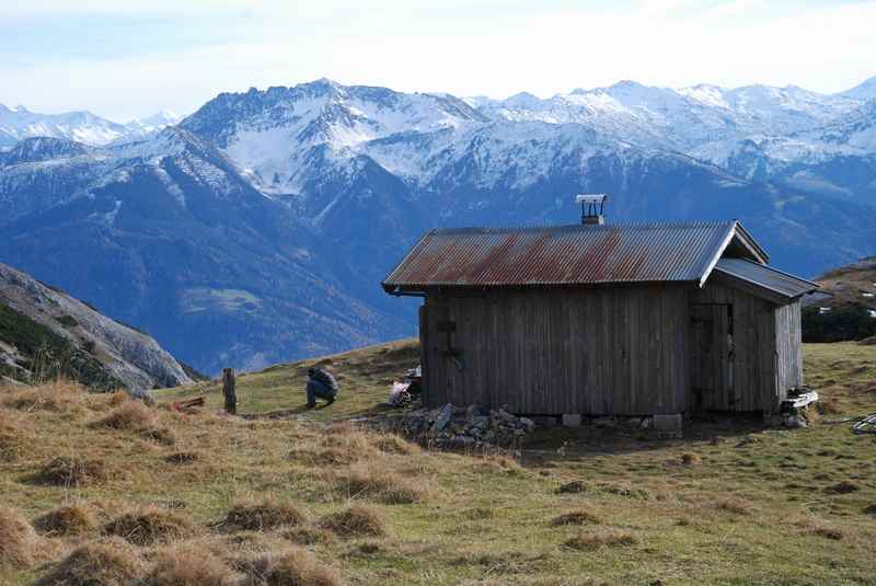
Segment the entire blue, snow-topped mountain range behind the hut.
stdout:
<path fill-rule="evenodd" d="M 379 283 L 435 227 L 739 218 L 804 275 L 876 250 L 876 78 L 550 99 L 319 80 L 223 93 L 176 122 L 0 106 L 0 262 L 200 370 L 401 337 Z"/>

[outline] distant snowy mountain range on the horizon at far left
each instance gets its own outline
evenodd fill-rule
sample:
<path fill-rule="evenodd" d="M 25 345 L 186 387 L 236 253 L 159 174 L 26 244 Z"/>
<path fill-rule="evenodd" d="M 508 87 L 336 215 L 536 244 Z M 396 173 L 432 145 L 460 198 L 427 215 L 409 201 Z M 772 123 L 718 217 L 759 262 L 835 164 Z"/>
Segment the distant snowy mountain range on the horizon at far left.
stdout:
<path fill-rule="evenodd" d="M 11 110 L 0 104 L 0 150 L 14 146 L 19 140 L 37 137 L 73 140 L 93 147 L 127 142 L 142 139 L 180 119 L 176 114 L 162 111 L 128 124 L 118 124 L 85 111 L 38 114 L 24 106 Z"/>

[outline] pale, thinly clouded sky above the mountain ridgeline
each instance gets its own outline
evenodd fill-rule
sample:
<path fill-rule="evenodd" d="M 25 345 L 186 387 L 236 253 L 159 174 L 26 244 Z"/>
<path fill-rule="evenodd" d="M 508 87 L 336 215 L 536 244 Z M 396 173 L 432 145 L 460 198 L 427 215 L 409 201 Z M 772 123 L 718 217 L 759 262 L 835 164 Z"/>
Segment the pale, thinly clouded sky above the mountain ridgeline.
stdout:
<path fill-rule="evenodd" d="M 546 97 L 876 76 L 876 0 L 2 0 L 0 104 L 117 122 L 322 77 Z"/>

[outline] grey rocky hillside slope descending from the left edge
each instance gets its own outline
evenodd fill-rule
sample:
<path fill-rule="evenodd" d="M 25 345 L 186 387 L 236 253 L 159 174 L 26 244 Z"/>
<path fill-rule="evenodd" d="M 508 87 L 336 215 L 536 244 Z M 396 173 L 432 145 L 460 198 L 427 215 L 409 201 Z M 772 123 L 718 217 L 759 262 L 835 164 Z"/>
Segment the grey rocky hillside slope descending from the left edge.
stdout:
<path fill-rule="evenodd" d="M 148 335 L 0 264 L 0 376 L 31 382 L 55 375 L 97 389 L 192 382 Z"/>

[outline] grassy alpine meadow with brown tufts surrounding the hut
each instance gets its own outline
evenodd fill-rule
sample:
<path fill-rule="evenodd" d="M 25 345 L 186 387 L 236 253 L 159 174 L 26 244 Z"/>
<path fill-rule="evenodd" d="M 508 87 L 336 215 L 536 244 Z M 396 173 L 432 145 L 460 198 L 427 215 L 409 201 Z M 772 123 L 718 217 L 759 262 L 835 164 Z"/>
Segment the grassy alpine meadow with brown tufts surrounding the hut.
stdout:
<path fill-rule="evenodd" d="M 412 348 L 322 358 L 346 378 L 313 416 L 383 400 Z M 876 411 L 876 347 L 807 345 L 804 365 L 826 418 Z M 270 409 L 300 404 L 301 366 L 242 378 L 242 399 L 273 378 Z M 851 586 L 876 574 L 873 441 L 849 424 L 713 421 L 683 440 L 551 429 L 520 452 L 451 452 L 351 424 L 74 390 L 34 409 L 32 393 L 0 388 L 0 584 Z"/>

